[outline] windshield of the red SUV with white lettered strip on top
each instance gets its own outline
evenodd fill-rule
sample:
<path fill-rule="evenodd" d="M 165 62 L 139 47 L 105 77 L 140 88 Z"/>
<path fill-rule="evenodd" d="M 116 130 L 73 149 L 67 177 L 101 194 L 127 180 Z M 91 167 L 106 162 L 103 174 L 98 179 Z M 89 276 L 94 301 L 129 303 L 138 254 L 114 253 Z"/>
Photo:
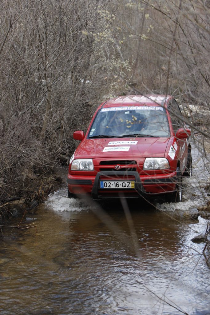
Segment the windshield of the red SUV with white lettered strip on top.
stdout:
<path fill-rule="evenodd" d="M 96 115 L 88 137 L 168 137 L 166 111 L 161 106 L 102 108 Z"/>

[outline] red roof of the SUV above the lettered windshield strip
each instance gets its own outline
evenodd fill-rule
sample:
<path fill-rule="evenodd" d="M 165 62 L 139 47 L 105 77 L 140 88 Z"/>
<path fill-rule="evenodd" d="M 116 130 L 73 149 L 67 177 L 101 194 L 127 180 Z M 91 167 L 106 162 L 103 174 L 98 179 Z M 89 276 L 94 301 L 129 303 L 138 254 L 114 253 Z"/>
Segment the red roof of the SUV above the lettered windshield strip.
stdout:
<path fill-rule="evenodd" d="M 164 106 L 171 98 L 170 95 L 125 95 L 107 100 L 103 108 L 116 106 Z M 165 106 L 164 106 L 165 107 Z"/>

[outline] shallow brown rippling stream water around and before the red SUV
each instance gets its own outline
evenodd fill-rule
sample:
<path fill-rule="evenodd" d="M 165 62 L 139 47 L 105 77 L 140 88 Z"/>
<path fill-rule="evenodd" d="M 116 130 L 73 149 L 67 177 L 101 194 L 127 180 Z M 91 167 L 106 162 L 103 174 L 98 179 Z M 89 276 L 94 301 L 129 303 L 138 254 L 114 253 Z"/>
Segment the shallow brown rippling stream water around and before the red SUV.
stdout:
<path fill-rule="evenodd" d="M 24 218 L 37 231 L 4 228 L 0 314 L 210 314 L 204 245 L 190 241 L 206 221 L 182 218 L 208 176 L 196 150 L 193 159 L 182 203 L 88 204 L 61 189 Z"/>

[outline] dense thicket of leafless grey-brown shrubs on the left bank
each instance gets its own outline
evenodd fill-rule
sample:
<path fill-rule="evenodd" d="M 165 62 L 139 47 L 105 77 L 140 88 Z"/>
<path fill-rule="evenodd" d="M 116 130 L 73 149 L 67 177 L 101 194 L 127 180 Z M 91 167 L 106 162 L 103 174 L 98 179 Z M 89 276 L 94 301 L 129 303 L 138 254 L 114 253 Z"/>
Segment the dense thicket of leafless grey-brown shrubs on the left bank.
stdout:
<path fill-rule="evenodd" d="M 104 50 L 88 36 L 105 29 L 98 6 L 111 11 L 104 0 L 1 3 L 0 198 L 24 192 L 26 169 L 71 154 L 106 94 Z"/>

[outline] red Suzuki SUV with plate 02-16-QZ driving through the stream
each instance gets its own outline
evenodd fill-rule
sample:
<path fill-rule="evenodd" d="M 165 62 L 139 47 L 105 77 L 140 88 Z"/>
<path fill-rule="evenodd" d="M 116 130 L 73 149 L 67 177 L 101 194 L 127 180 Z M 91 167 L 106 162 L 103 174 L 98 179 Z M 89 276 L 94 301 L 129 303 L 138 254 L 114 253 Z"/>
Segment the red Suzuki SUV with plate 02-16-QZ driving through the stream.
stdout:
<path fill-rule="evenodd" d="M 182 200 L 192 175 L 190 130 L 170 95 L 128 95 L 102 103 L 70 159 L 68 197 L 93 199 L 164 194 Z"/>

